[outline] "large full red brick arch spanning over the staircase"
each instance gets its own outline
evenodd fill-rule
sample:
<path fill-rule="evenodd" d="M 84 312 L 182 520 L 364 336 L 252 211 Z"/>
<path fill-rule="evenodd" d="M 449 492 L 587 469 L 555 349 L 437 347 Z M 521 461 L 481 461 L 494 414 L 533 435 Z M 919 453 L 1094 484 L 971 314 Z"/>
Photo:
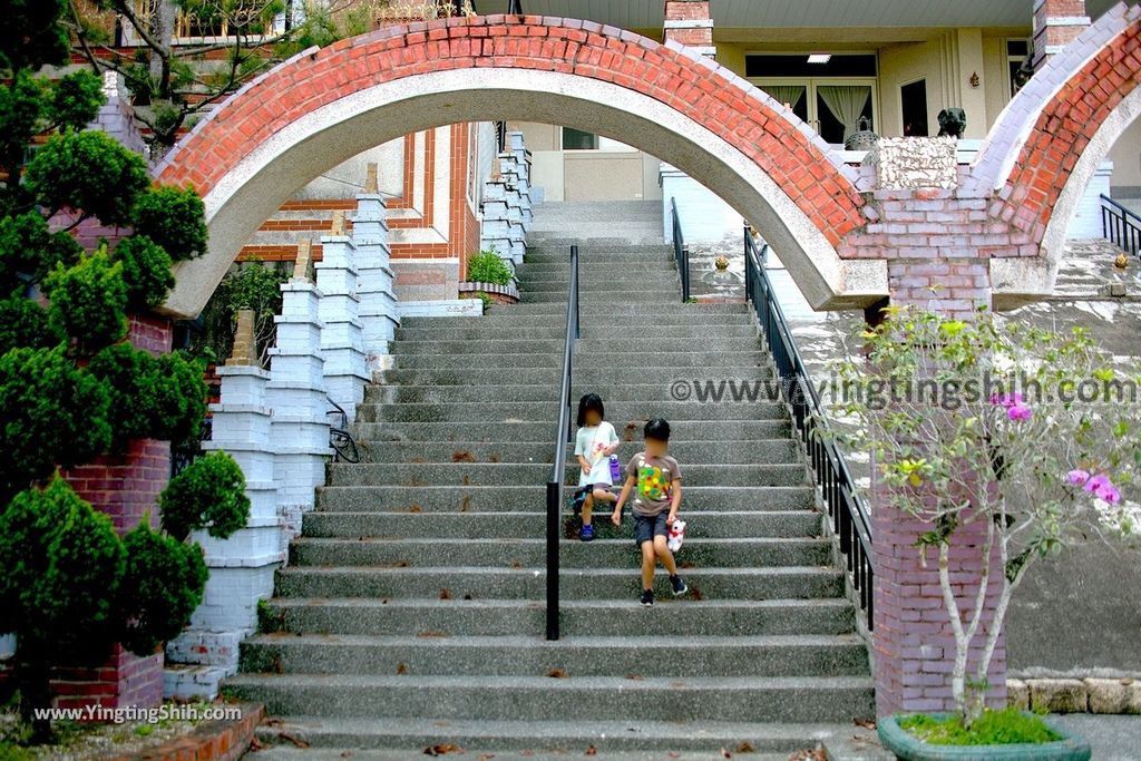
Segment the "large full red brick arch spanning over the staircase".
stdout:
<path fill-rule="evenodd" d="M 864 222 L 864 201 L 843 165 L 830 154 L 827 145 L 787 110 L 717 64 L 678 46 L 659 44 L 629 31 L 592 22 L 541 16 L 442 19 L 387 27 L 329 48 L 306 51 L 252 82 L 200 123 L 159 168 L 157 178 L 163 183 L 192 185 L 207 199 L 208 216 L 213 219 L 226 205 L 225 199 L 241 189 L 236 186 L 244 180 L 238 178 L 241 171 L 237 170 L 243 164 L 260 161 L 259 176 L 273 176 L 277 181 L 264 185 L 259 193 L 281 195 L 273 199 L 280 203 L 319 171 L 337 163 L 321 164 L 316 152 L 324 151 L 333 156 L 335 149 L 331 148 L 337 146 L 329 140 L 322 143 L 322 136 L 315 132 L 299 137 L 298 143 L 305 146 L 292 154 L 293 163 L 304 164 L 308 176 L 291 173 L 282 162 L 270 165 L 276 159 L 266 159 L 265 146 L 273 139 L 283 139 L 282 136 L 289 135 L 299 121 L 310 116 L 317 119 L 315 114 L 323 113 L 324 107 L 349 103 L 369 88 L 479 70 L 502 73 L 504 81 L 517 72 L 537 72 L 569 75 L 578 82 L 605 82 L 621 88 L 631 99 L 650 98 L 671 113 L 680 114 L 695 128 L 720 138 L 743 154 L 751 169 L 759 169 L 779 188 L 784 196 L 782 203 L 786 199 L 791 204 L 775 211 L 769 204 L 767 209 L 770 219 L 782 225 L 787 222 L 788 240 L 804 237 L 806 224 L 814 227 L 808 230 L 809 236 L 818 236 L 822 245 L 817 248 L 827 249 L 832 257 L 825 265 L 814 264 L 823 273 L 820 282 L 831 278 L 828 288 L 833 292 L 843 290 L 842 285 L 836 286 L 844 282 L 845 275 L 834 250 L 848 233 Z M 510 89 L 509 84 L 505 87 Z M 527 106 L 527 92 L 517 90 L 518 98 L 502 99 L 502 114 L 464 114 L 462 107 L 450 111 L 453 104 L 440 102 L 432 106 L 435 124 L 421 123 L 429 119 L 421 115 L 421 122 L 399 127 L 406 132 L 469 119 L 541 121 L 528 119 L 532 112 Z M 423 97 L 427 94 L 407 95 L 408 103 Z M 574 123 L 575 110 L 567 108 L 566 113 L 567 120 L 561 123 L 578 126 Z M 613 137 L 646 147 L 639 145 L 638 130 L 629 124 L 593 127 L 596 131 L 607 133 L 609 130 Z M 693 151 L 679 151 L 677 156 L 659 154 L 659 157 L 706 181 L 712 173 L 703 178 L 702 169 L 704 162 L 711 161 L 710 155 L 698 156 L 705 148 L 698 140 L 693 143 L 689 146 Z M 298 159 L 302 155 L 304 161 Z M 706 184 L 731 202 L 747 197 L 737 191 L 738 180 L 739 177 L 727 180 L 723 188 L 717 186 L 717 181 Z M 269 205 L 268 200 L 262 200 L 266 203 L 258 207 L 258 213 Z M 753 209 L 741 208 L 742 203 L 734 205 L 753 218 Z M 763 217 L 760 211 L 755 213 Z M 262 219 L 265 216 L 268 214 Z M 798 220 L 788 222 L 788 217 L 798 217 Z M 248 225 L 254 226 L 250 228 L 252 232 L 262 219 L 232 220 L 225 234 L 212 226 L 211 254 L 205 259 L 213 257 L 216 249 L 236 252 L 234 246 L 240 246 L 242 241 L 228 238 L 238 236 Z M 800 233 L 796 225 L 800 225 Z M 780 252 L 779 248 L 777 250 Z M 224 264 L 228 266 L 229 262 Z M 184 265 L 179 290 L 168 302 L 168 309 L 175 314 L 196 313 L 204 298 L 201 293 L 185 292 L 184 281 L 220 277 L 225 272 L 225 267 L 219 270 L 220 265 L 219 261 L 209 266 Z M 184 277 L 187 272 L 191 278 Z M 202 290 L 201 283 L 196 289 Z"/>

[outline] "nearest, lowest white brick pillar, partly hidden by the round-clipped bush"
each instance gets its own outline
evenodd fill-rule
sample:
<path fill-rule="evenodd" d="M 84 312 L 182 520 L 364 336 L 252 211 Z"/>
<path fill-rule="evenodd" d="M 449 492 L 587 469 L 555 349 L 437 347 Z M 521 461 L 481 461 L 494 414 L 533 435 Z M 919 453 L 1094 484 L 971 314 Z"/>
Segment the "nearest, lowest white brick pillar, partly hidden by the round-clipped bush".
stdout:
<path fill-rule="evenodd" d="M 274 483 L 269 373 L 257 364 L 253 313 L 238 316 L 235 356 L 218 369 L 221 399 L 213 413 L 208 451 L 227 452 L 245 476 L 250 518 L 229 539 L 194 532 L 205 551 L 210 577 L 191 625 L 167 643 L 168 697 L 212 698 L 219 682 L 237 673 L 238 642 L 257 629 L 258 600 L 273 596 L 274 572 L 285 558 Z"/>

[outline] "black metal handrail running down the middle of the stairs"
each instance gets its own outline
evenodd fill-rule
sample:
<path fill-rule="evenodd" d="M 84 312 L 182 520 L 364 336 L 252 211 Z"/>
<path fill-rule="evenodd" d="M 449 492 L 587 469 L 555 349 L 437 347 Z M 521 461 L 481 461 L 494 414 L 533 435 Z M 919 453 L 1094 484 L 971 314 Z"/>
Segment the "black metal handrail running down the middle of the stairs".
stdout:
<path fill-rule="evenodd" d="M 566 485 L 567 443 L 570 440 L 570 383 L 574 346 L 578 339 L 578 246 L 570 246 L 570 288 L 567 296 L 563 381 L 559 384 L 559 429 L 555 434 L 551 478 L 547 481 L 547 639 L 559 638 L 559 539 L 563 534 L 563 492 Z"/>

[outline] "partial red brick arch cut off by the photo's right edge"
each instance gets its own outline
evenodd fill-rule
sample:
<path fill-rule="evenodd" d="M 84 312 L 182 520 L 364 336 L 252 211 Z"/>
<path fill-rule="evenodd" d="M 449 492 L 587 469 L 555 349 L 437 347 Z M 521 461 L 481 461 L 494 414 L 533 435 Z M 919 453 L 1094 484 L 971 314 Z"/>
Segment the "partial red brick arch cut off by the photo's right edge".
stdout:
<path fill-rule="evenodd" d="M 1038 113 L 992 210 L 1042 244 L 1050 259 L 1060 256 L 1092 171 L 1141 113 L 1141 8 L 1131 15 Z"/>

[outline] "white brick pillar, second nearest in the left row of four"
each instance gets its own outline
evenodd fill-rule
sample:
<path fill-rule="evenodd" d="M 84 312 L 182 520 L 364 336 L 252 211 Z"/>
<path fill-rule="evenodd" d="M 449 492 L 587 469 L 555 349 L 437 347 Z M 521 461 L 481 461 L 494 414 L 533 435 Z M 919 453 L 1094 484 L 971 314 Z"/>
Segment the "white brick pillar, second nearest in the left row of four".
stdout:
<path fill-rule="evenodd" d="M 325 483 L 331 408 L 321 354 L 321 291 L 309 278 L 309 243 L 302 242 L 293 277 L 282 284 L 277 343 L 269 349 L 268 400 L 273 408 L 274 480 L 288 544 L 301 531 Z"/>

